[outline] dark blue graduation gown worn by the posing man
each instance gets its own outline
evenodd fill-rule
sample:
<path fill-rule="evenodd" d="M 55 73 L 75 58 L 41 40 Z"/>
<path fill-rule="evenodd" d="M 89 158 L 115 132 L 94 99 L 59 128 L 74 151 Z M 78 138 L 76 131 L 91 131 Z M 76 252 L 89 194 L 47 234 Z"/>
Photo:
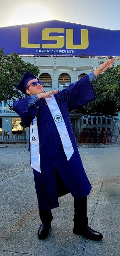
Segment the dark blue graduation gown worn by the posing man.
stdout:
<path fill-rule="evenodd" d="M 74 153 L 69 161 L 64 153 L 60 135 L 46 101 L 40 99 L 28 108 L 30 97 L 27 96 L 13 103 L 13 108 L 21 117 L 25 127 L 29 127 L 34 117 L 37 116 L 41 173 L 34 169 L 33 173 L 39 210 L 48 210 L 59 206 L 54 166 L 68 191 L 76 200 L 86 197 L 91 190 L 69 118 L 69 111 L 95 100 L 88 75 L 70 84 L 68 88 L 59 91 L 54 96 L 74 148 Z"/>

